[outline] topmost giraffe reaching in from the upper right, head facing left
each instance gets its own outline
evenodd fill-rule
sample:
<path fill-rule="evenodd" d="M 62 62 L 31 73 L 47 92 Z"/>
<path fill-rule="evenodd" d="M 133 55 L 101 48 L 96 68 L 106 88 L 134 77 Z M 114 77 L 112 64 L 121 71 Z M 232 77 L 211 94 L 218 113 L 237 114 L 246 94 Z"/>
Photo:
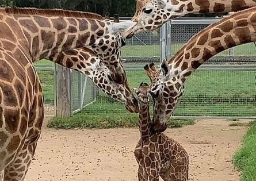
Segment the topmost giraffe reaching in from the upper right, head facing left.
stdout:
<path fill-rule="evenodd" d="M 130 38 L 133 34 L 158 29 L 165 22 L 186 14 L 239 11 L 253 6 L 256 6 L 255 0 L 137 0 L 132 18 L 137 24 L 123 36 Z"/>

